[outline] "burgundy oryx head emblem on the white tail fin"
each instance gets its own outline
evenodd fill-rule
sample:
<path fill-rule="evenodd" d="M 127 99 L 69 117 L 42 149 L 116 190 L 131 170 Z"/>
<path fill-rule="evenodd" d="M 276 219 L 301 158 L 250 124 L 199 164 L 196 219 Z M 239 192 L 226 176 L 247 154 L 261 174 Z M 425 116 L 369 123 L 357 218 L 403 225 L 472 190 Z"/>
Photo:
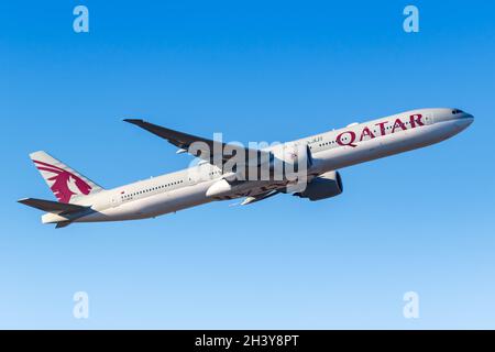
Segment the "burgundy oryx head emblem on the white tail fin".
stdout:
<path fill-rule="evenodd" d="M 69 202 L 75 195 L 89 195 L 91 186 L 82 178 L 65 170 L 61 167 L 43 162 L 33 161 L 37 169 L 52 173 L 54 176 L 47 178 L 51 182 L 51 189 L 61 202 Z"/>

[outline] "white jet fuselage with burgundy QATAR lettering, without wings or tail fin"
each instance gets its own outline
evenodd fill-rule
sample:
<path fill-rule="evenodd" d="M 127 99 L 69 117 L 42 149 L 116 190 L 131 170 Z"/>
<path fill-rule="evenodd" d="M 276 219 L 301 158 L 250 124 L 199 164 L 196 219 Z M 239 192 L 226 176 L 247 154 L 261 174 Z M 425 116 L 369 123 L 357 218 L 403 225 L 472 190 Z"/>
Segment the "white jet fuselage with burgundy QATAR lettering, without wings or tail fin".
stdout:
<path fill-rule="evenodd" d="M 307 144 L 314 160 L 310 173 L 321 175 L 441 142 L 468 128 L 472 121 L 472 116 L 455 109 L 420 109 L 289 143 Z M 154 218 L 207 204 L 216 200 L 207 196 L 208 189 L 221 179 L 220 168 L 202 163 L 194 168 L 103 190 L 80 199 L 77 204 L 90 206 L 91 212 L 73 221 Z M 242 190 L 234 189 L 229 198 L 249 196 L 251 191 L 255 194 L 260 186 L 261 183 L 246 182 Z M 61 220 L 57 215 L 43 216 L 43 222 Z"/>

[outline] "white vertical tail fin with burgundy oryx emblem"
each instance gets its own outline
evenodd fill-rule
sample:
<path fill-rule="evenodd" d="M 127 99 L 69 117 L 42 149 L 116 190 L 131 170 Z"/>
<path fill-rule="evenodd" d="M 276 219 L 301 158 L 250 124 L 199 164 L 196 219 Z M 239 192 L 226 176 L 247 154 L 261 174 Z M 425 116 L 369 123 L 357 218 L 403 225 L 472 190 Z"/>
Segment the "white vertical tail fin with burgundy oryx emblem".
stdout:
<path fill-rule="evenodd" d="M 59 202 L 74 202 L 80 197 L 103 190 L 45 152 L 32 153 L 30 157 Z"/>

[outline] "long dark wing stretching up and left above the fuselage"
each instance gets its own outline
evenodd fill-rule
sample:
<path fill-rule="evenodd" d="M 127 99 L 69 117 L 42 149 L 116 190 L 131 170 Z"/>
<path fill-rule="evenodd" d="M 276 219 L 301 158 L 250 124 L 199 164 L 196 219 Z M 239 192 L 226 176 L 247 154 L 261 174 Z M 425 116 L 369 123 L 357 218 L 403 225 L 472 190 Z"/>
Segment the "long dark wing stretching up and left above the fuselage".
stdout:
<path fill-rule="evenodd" d="M 204 139 L 201 136 L 170 130 L 139 119 L 125 119 L 124 121 L 135 124 L 164 140 L 167 140 L 169 143 L 179 147 L 177 153 L 187 152 L 196 157 L 207 161 L 210 164 L 222 162 L 223 165 L 235 155 L 239 155 L 239 153 L 244 153 L 246 164 L 249 160 L 256 158 L 258 161 L 257 166 L 263 161 L 270 161 L 271 157 L 268 152 Z M 216 153 L 218 155 L 216 155 Z"/>

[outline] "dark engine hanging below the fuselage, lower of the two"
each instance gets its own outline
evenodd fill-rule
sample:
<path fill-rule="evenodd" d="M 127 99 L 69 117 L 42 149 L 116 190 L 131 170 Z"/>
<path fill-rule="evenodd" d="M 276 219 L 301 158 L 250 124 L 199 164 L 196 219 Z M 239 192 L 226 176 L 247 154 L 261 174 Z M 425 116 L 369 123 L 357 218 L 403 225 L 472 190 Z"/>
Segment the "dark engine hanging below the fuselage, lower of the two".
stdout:
<path fill-rule="evenodd" d="M 342 191 L 342 178 L 339 172 L 329 172 L 315 177 L 304 191 L 294 194 L 294 196 L 315 201 L 339 196 Z"/>

